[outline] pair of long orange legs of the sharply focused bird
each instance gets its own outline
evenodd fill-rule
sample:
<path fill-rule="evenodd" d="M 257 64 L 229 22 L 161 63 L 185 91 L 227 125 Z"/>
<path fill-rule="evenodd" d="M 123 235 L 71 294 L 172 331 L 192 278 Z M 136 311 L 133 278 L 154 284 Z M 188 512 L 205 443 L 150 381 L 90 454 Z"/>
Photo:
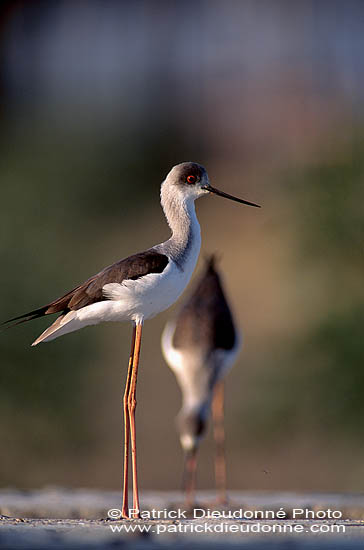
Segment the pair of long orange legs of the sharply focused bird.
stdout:
<path fill-rule="evenodd" d="M 142 340 L 142 327 L 143 325 L 141 323 L 137 323 L 136 333 L 135 333 L 134 356 L 133 356 L 130 388 L 129 388 L 129 395 L 128 395 L 130 439 L 131 439 L 131 465 L 132 465 L 132 473 L 133 473 L 133 513 L 132 513 L 133 518 L 140 517 L 137 460 L 136 460 L 135 408 L 136 408 L 136 383 L 137 383 L 137 377 L 138 377 L 140 345 Z"/>

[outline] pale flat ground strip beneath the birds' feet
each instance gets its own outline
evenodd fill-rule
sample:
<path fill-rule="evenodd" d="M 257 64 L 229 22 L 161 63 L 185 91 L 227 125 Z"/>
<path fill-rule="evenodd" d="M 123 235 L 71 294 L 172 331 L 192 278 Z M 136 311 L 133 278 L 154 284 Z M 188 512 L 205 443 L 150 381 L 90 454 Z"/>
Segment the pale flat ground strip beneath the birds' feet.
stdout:
<path fill-rule="evenodd" d="M 91 490 L 2 490 L 0 548 L 364 547 L 361 495 L 231 492 L 229 504 L 221 508 L 211 493 L 204 492 L 198 494 L 196 517 L 190 518 L 192 512 L 185 509 L 180 494 L 145 493 L 144 519 L 129 522 L 108 517 L 118 515 L 119 498 L 115 492 Z M 213 511 L 210 517 L 208 509 Z M 109 510 L 114 511 L 108 514 Z M 177 514 L 179 518 L 168 518 Z"/>

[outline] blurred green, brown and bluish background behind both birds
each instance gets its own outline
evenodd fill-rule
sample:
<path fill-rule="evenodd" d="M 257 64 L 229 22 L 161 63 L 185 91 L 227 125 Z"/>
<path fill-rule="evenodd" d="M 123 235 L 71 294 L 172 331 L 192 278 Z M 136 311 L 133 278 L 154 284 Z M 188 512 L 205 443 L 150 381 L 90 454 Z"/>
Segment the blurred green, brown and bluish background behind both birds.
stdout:
<path fill-rule="evenodd" d="M 168 238 L 160 183 L 200 162 L 263 206 L 197 204 L 196 273 L 221 254 L 245 342 L 227 379 L 229 487 L 364 491 L 364 3 L 3 0 L 0 14 L 1 318 Z M 144 330 L 143 489 L 180 487 L 171 311 Z M 30 348 L 49 322 L 0 335 L 0 484 L 117 490 L 131 326 Z"/>

